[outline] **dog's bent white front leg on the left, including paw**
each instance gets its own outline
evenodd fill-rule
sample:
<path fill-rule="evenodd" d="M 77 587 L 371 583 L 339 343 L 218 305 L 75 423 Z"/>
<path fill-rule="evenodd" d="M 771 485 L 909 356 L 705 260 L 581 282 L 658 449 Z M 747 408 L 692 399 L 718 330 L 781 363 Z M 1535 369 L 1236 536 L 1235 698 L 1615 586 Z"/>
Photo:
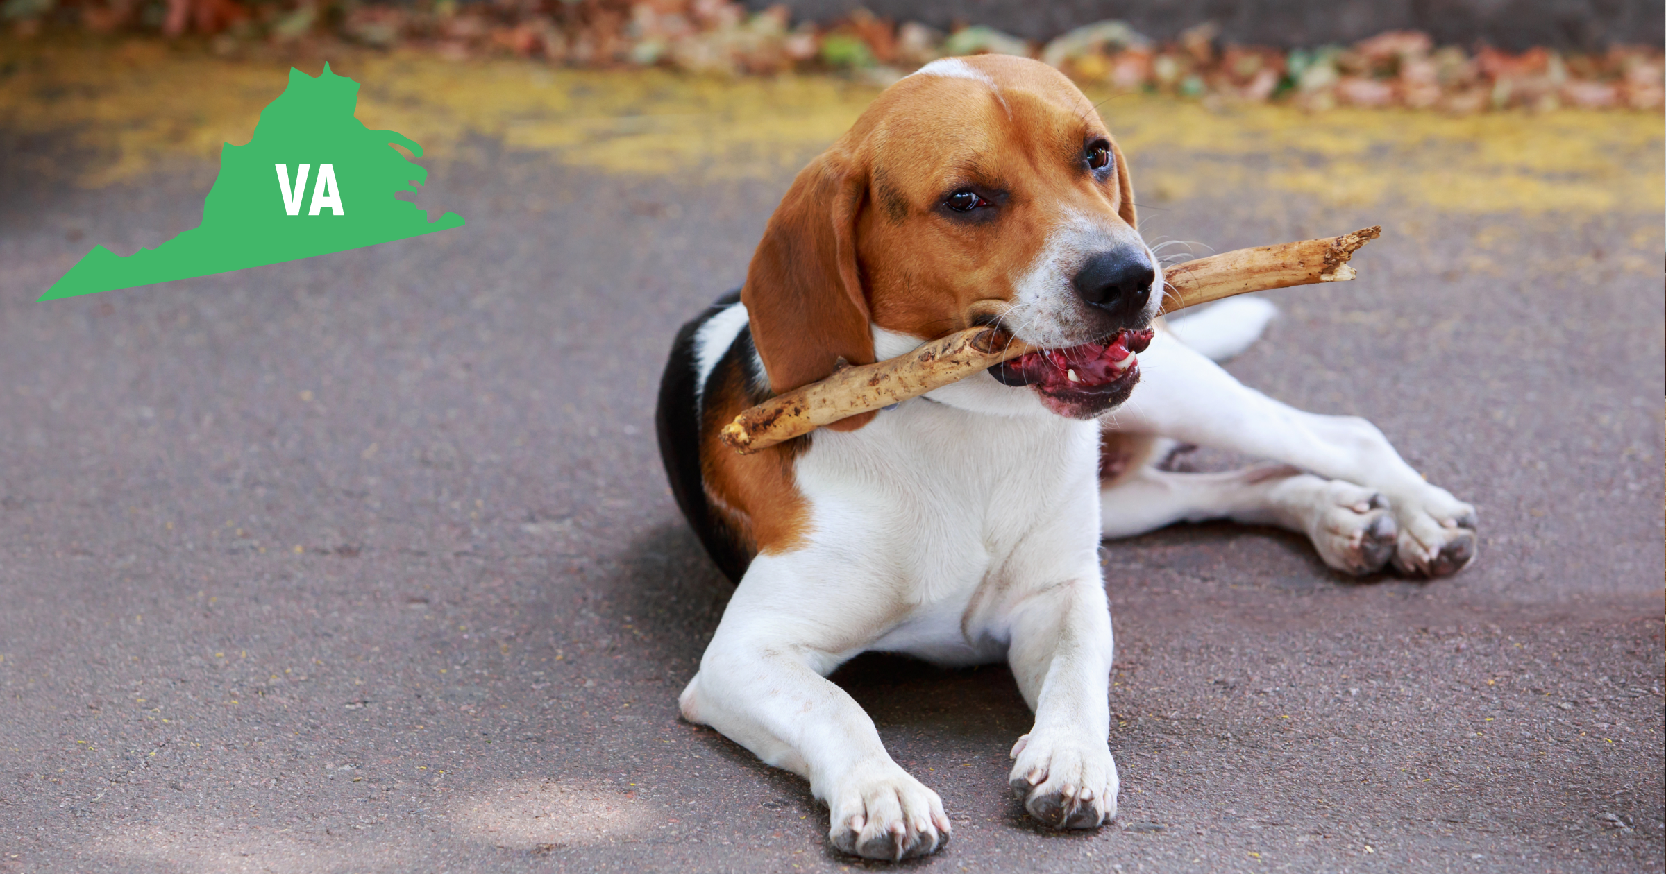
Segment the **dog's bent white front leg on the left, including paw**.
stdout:
<path fill-rule="evenodd" d="M 806 777 L 838 849 L 891 861 L 935 852 L 950 836 L 943 801 L 891 761 L 873 719 L 825 676 L 883 628 L 883 598 L 818 584 L 826 563 L 810 564 L 753 561 L 683 689 L 683 718 Z"/>

